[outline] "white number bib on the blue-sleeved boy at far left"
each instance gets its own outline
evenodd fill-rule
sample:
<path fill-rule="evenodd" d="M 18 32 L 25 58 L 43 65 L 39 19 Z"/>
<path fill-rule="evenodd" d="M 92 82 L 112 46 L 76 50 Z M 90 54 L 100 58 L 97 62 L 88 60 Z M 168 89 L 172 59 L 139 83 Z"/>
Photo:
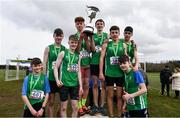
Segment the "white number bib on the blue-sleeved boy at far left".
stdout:
<path fill-rule="evenodd" d="M 44 91 L 33 89 L 30 94 L 30 98 L 32 99 L 43 99 Z"/>

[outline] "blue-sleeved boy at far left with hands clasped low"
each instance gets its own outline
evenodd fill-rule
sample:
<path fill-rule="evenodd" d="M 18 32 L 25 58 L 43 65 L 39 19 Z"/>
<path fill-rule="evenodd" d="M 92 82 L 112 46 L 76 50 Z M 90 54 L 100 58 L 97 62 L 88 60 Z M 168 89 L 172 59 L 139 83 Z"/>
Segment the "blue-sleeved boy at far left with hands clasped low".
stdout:
<path fill-rule="evenodd" d="M 25 103 L 24 117 L 45 117 L 50 87 L 48 78 L 42 73 L 39 58 L 31 61 L 32 73 L 24 78 L 22 99 Z"/>

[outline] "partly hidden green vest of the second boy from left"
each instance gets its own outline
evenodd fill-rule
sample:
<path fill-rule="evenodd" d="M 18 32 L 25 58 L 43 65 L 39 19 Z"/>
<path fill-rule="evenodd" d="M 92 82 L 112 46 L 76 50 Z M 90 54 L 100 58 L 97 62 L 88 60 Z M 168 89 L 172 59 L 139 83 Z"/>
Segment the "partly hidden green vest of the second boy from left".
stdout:
<path fill-rule="evenodd" d="M 47 74 L 48 78 L 51 81 L 55 81 L 54 78 L 54 65 L 56 62 L 56 59 L 61 51 L 64 51 L 66 48 L 61 45 L 60 47 L 56 47 L 54 44 L 51 44 L 49 47 L 49 56 L 48 56 L 48 67 L 47 67 Z"/>

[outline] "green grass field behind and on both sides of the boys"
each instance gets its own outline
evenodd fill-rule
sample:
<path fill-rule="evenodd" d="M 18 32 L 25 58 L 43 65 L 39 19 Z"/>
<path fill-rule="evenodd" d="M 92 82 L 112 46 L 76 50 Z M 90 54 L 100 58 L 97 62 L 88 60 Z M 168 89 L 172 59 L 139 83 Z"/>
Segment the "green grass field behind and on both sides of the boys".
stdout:
<path fill-rule="evenodd" d="M 0 70 L 0 117 L 21 117 L 23 114 L 21 99 L 23 75 L 20 80 L 14 81 L 4 81 L 4 75 L 4 70 Z M 172 91 L 170 97 L 160 96 L 159 73 L 148 73 L 148 77 L 150 82 L 148 91 L 150 116 L 180 117 L 180 99 L 174 99 Z"/>

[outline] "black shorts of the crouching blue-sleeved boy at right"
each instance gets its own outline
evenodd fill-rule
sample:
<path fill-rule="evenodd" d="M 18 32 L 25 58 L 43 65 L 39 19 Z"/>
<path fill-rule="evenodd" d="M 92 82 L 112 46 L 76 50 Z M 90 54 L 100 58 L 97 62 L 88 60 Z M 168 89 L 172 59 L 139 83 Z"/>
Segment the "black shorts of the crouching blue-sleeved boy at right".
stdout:
<path fill-rule="evenodd" d="M 132 110 L 132 111 L 129 111 L 129 116 L 130 117 L 148 118 L 149 114 L 148 114 L 148 110 L 146 108 L 146 109 L 142 109 L 142 110 Z"/>

